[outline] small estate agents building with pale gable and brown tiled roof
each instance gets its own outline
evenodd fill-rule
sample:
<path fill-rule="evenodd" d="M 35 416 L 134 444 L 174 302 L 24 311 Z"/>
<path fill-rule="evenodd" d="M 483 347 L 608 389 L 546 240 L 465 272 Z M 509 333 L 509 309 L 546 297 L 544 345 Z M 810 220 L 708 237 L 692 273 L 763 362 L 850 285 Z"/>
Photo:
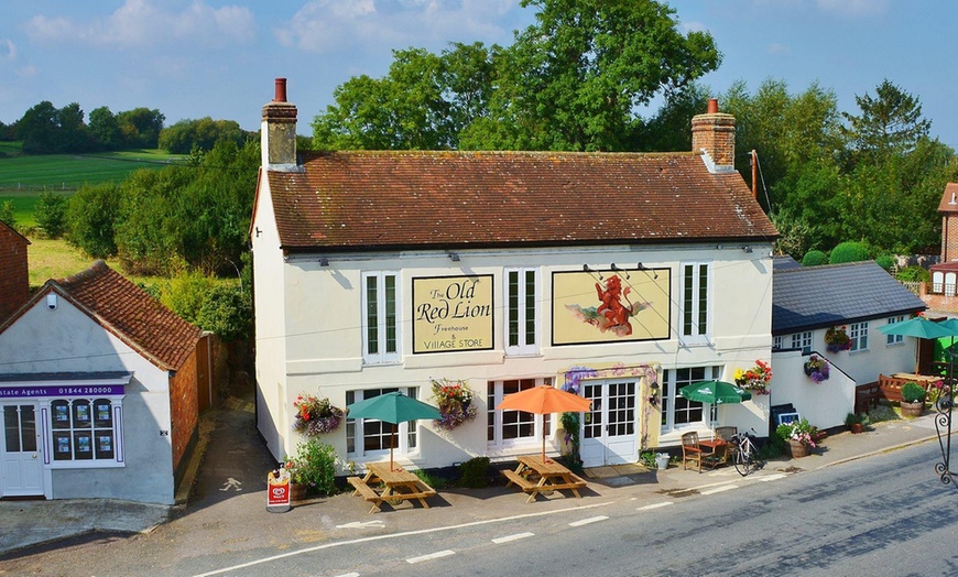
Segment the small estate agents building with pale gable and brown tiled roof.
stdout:
<path fill-rule="evenodd" d="M 0 497 L 174 503 L 197 438 L 197 327 L 102 261 L 0 324 Z"/>

